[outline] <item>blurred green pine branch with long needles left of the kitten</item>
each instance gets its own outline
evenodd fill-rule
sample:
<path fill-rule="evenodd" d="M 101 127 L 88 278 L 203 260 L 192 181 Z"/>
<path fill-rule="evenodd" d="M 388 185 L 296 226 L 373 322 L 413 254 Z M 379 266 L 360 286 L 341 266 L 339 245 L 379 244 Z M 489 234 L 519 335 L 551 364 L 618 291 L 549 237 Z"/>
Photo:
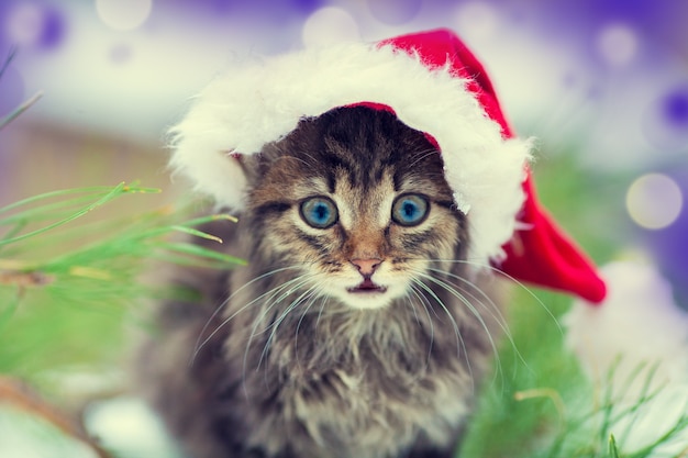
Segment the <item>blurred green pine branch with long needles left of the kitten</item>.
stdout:
<path fill-rule="evenodd" d="M 84 219 L 115 200 L 157 192 L 120 183 L 48 192 L 0 209 L 0 373 L 40 383 L 46 370 L 108 360 L 123 343 L 124 321 L 143 314 L 143 301 L 190 293 L 146 284 L 142 277 L 156 260 L 210 269 L 244 264 L 212 243 L 171 239 L 201 237 L 219 248 L 222 241 L 200 226 L 233 224 L 230 215 L 188 219 L 188 211 L 165 208 L 114 221 L 106 212 L 99 221 Z"/>

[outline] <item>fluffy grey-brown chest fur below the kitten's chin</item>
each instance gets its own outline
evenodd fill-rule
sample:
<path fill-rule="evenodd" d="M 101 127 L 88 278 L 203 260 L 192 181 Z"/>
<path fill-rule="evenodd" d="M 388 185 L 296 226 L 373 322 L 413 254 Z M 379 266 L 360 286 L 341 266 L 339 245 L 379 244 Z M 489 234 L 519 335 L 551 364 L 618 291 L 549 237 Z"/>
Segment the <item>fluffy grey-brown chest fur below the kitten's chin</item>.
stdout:
<path fill-rule="evenodd" d="M 454 443 L 473 394 L 465 355 L 408 334 L 388 313 L 355 314 L 367 316 L 295 316 L 273 342 L 256 339 L 248 360 L 259 367 L 242 362 L 242 402 L 264 405 L 255 421 L 271 418 L 271 427 L 252 431 L 249 443 L 276 455 L 360 458 L 397 456 L 419 440 Z M 245 342 L 226 345 L 234 342 L 242 351 L 230 351 L 243 353 Z"/>

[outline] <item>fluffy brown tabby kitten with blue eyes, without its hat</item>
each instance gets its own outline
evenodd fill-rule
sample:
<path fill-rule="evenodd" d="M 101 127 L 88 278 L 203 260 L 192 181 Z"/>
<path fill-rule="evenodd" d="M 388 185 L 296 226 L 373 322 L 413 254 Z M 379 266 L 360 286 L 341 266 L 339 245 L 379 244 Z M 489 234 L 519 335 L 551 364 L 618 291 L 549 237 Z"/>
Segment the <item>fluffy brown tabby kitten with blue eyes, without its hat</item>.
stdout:
<path fill-rule="evenodd" d="M 195 458 L 451 457 L 500 326 L 440 152 L 353 107 L 232 160 L 247 205 L 209 230 L 247 265 L 176 272 L 203 303 L 164 304 L 141 364 L 174 436 Z"/>

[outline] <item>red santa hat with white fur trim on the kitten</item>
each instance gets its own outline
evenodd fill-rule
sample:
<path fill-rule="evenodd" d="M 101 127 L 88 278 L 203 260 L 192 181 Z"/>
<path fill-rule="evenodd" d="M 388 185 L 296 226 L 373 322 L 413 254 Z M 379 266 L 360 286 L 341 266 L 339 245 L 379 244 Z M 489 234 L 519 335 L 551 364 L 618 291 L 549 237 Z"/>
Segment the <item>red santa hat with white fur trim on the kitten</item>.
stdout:
<path fill-rule="evenodd" d="M 476 266 L 591 303 L 603 299 L 592 264 L 537 203 L 531 143 L 513 134 L 485 69 L 448 30 L 307 48 L 234 68 L 171 130 L 171 166 L 220 205 L 241 211 L 246 180 L 233 155 L 260 152 L 301 119 L 357 104 L 389 110 L 433 138 L 470 224 Z"/>

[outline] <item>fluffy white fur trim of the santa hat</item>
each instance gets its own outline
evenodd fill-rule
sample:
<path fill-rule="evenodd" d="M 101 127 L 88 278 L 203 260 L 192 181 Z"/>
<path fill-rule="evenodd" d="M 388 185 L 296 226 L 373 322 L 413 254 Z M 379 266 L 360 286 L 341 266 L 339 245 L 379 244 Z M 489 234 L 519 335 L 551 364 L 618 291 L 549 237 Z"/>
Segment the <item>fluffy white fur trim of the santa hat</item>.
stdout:
<path fill-rule="evenodd" d="M 530 142 L 503 138 L 448 66 L 431 69 L 391 45 L 308 48 L 233 68 L 171 129 L 170 165 L 218 204 L 241 211 L 246 181 L 229 153 L 256 154 L 302 118 L 358 102 L 386 104 L 437 141 L 457 206 L 470 209 L 470 260 L 501 260 L 525 198 Z"/>

